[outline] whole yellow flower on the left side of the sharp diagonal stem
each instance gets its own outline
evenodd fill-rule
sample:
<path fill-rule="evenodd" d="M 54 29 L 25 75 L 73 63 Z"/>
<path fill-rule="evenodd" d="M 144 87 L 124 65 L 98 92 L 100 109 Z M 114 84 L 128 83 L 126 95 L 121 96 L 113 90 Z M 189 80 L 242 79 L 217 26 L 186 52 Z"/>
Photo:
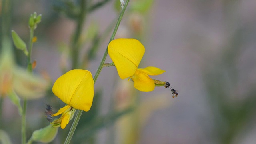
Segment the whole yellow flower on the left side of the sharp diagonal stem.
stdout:
<path fill-rule="evenodd" d="M 74 109 L 88 111 L 92 106 L 94 96 L 94 81 L 88 70 L 70 70 L 60 76 L 52 87 L 52 92 L 67 105 L 53 114 L 61 118 L 51 124 L 60 124 L 65 128 L 72 119 Z"/>

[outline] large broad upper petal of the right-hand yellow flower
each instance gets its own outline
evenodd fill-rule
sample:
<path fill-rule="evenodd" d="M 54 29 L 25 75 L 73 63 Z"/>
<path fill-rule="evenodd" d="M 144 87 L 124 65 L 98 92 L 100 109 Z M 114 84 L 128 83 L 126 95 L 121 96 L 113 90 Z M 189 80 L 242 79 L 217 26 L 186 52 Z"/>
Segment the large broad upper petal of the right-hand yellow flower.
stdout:
<path fill-rule="evenodd" d="M 120 38 L 108 44 L 108 54 L 122 79 L 135 73 L 144 53 L 144 46 L 136 39 Z"/>

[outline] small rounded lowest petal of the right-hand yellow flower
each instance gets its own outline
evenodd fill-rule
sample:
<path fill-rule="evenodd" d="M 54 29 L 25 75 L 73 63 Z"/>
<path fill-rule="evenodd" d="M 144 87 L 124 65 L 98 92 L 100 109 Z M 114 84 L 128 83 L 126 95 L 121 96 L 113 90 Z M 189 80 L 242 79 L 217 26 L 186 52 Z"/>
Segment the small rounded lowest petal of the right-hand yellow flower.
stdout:
<path fill-rule="evenodd" d="M 134 87 L 142 92 L 150 92 L 155 89 L 154 81 L 147 74 L 138 70 L 132 76 L 132 80 L 134 81 Z"/>

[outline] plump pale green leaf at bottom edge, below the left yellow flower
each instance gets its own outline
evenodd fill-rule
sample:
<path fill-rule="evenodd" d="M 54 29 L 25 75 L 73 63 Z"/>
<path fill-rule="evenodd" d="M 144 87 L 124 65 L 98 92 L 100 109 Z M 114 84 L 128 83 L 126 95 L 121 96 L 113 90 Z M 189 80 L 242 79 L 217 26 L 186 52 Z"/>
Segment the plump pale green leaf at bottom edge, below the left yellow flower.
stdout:
<path fill-rule="evenodd" d="M 52 128 L 52 125 L 48 125 L 39 130 L 35 130 L 28 141 L 28 144 L 32 144 L 32 142 L 42 142 L 49 143 L 56 137 L 59 128 Z"/>

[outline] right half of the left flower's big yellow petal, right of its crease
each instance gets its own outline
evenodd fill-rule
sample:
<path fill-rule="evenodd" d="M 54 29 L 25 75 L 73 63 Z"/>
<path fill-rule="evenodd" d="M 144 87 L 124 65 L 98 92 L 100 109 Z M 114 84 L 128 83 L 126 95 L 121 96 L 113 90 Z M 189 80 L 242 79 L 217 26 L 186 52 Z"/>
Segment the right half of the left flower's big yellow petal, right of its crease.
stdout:
<path fill-rule="evenodd" d="M 87 70 L 86 70 L 87 71 Z M 94 96 L 94 80 L 91 72 L 87 71 L 84 78 L 81 79 L 74 95 L 70 101 L 70 105 L 76 109 L 88 111 L 92 106 Z"/>

